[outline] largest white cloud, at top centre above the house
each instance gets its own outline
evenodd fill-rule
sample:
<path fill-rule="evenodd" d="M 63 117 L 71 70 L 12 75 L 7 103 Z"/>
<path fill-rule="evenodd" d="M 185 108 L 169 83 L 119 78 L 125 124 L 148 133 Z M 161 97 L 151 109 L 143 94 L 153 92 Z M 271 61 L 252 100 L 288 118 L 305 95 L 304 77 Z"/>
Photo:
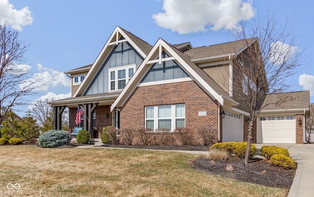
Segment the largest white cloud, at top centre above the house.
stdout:
<path fill-rule="evenodd" d="M 251 0 L 163 0 L 163 10 L 152 18 L 158 26 L 179 34 L 233 29 L 256 13 Z"/>

